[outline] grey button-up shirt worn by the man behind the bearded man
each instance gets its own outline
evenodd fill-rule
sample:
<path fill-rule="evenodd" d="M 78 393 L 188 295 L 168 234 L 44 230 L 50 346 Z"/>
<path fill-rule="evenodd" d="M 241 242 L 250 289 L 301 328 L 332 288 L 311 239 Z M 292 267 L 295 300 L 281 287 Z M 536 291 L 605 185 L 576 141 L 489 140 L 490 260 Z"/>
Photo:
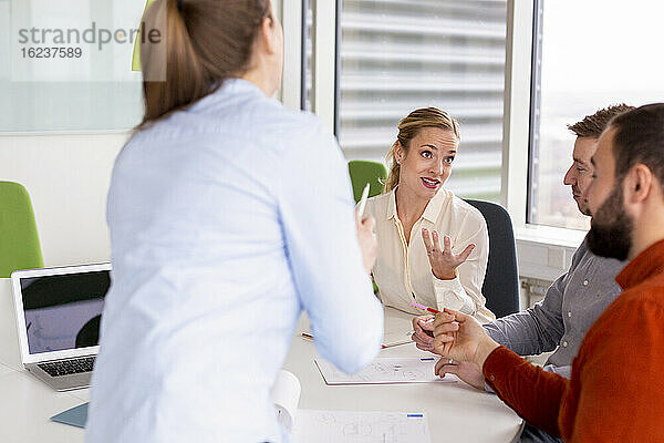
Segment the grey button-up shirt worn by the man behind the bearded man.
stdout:
<path fill-rule="evenodd" d="M 544 369 L 569 379 L 585 331 L 621 292 L 614 278 L 624 265 L 591 254 L 584 240 L 568 272 L 553 281 L 542 301 L 484 327 L 494 340 L 519 356 L 558 347 Z"/>

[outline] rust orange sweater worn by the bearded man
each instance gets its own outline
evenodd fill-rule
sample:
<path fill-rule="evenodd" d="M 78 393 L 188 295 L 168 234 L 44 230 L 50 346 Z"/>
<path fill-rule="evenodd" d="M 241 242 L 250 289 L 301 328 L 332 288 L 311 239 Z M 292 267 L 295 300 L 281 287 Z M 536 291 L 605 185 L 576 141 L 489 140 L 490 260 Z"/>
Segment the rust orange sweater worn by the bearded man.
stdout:
<path fill-rule="evenodd" d="M 664 240 L 615 280 L 623 293 L 583 338 L 571 381 L 505 347 L 483 368 L 519 415 L 567 442 L 664 442 Z"/>

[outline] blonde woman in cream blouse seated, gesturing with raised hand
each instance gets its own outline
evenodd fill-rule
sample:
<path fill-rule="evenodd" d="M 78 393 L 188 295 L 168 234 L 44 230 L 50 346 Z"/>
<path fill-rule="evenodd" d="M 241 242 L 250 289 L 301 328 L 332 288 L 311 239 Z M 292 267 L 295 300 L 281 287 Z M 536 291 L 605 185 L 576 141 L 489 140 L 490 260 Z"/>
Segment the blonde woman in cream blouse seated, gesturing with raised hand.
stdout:
<path fill-rule="evenodd" d="M 411 312 L 417 302 L 469 313 L 480 322 L 496 317 L 481 286 L 489 238 L 483 215 L 443 185 L 459 147 L 458 122 L 435 107 L 413 111 L 398 124 L 387 154 L 385 193 L 370 198 L 378 256 L 373 277 L 383 305 Z M 429 316 L 414 320 L 416 331 Z"/>

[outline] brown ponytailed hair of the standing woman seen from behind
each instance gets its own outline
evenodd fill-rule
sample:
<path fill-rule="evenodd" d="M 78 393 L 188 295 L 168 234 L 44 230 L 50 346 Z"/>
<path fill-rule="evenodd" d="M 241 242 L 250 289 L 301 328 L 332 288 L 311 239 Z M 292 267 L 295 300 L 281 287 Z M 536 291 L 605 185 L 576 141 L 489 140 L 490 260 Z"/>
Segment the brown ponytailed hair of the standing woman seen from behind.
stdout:
<path fill-rule="evenodd" d="M 141 65 L 145 114 L 138 130 L 193 105 L 243 73 L 269 0 L 156 0 L 145 12 Z"/>

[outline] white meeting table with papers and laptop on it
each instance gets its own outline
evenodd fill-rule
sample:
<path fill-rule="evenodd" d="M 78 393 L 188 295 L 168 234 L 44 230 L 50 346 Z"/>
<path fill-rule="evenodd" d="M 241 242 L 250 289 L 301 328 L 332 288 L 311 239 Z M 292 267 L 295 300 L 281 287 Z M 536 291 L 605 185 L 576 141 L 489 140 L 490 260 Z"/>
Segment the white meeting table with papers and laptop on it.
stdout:
<path fill-rule="evenodd" d="M 386 311 L 387 331 L 405 330 L 408 324 L 409 316 Z M 305 327 L 302 318 L 284 363 L 302 384 L 302 409 L 424 411 L 432 442 L 509 442 L 520 429 L 521 420 L 496 395 L 460 382 L 328 387 L 313 362 L 314 343 L 299 334 Z M 414 344 L 381 351 L 383 357 L 421 354 Z M 49 418 L 87 401 L 89 390 L 54 392 L 22 369 L 9 279 L 0 279 L 0 442 L 83 441 L 81 429 Z"/>

